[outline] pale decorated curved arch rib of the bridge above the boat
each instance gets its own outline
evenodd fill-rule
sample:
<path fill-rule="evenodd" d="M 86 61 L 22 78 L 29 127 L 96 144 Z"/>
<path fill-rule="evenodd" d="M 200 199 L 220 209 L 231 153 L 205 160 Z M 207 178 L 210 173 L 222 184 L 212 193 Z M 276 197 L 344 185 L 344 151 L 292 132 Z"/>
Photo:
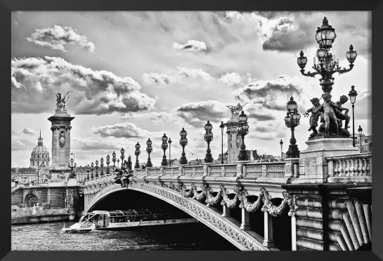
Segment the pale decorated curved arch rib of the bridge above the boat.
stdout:
<path fill-rule="evenodd" d="M 126 187 L 122 188 L 121 185 L 112 185 L 102 189 L 89 202 L 89 205 L 84 209 L 84 212 L 89 211 L 89 209 L 106 196 L 124 189 L 126 189 Z M 127 189 L 155 196 L 157 199 L 162 199 L 172 206 L 183 210 L 188 215 L 195 217 L 195 219 L 233 243 L 233 245 L 240 250 L 269 250 L 262 245 L 261 236 L 259 236 L 259 239 L 255 239 L 254 236 L 240 229 L 238 225 L 235 225 L 233 222 L 226 219 L 226 217 L 221 217 L 219 213 L 207 208 L 202 203 L 195 199 L 181 196 L 181 194 L 172 189 L 149 184 L 129 184 Z"/>

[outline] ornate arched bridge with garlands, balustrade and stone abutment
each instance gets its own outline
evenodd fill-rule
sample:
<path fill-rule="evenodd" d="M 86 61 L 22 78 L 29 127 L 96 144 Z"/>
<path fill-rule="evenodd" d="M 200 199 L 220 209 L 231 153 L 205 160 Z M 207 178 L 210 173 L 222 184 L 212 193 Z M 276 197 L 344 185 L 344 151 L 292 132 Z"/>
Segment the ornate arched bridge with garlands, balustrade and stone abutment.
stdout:
<path fill-rule="evenodd" d="M 327 156 L 323 182 L 307 168 L 300 174 L 303 163 L 286 159 L 135 169 L 127 188 L 105 175 L 84 182 L 84 211 L 131 189 L 176 206 L 240 250 L 280 250 L 277 241 L 286 229 L 291 232 L 287 250 L 370 250 L 371 154 Z M 231 217 L 238 208 L 240 219 Z M 259 211 L 263 222 L 256 233 L 249 215 Z M 278 223 L 286 219 L 281 229 Z"/>

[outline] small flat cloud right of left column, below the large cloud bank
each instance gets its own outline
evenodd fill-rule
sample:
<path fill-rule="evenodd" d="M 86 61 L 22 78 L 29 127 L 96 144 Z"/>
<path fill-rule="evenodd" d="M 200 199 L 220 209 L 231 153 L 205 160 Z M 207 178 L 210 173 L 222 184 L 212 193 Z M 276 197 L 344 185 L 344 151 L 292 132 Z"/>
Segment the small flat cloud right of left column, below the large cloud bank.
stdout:
<path fill-rule="evenodd" d="M 104 138 L 143 138 L 150 135 L 148 131 L 137 127 L 133 123 L 117 123 L 115 125 L 100 126 L 95 128 L 93 133 Z"/>

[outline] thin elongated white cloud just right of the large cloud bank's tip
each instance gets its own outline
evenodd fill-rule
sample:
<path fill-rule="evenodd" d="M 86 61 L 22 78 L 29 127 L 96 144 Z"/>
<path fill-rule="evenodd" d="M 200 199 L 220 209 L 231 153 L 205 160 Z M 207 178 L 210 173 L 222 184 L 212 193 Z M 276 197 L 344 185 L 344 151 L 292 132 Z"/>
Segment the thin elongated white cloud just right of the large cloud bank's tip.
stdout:
<path fill-rule="evenodd" d="M 193 69 L 185 67 L 176 67 L 176 70 L 169 73 L 145 73 L 143 81 L 147 84 L 169 84 L 183 81 L 184 79 L 197 79 L 202 81 L 210 81 L 213 77 L 202 69 Z"/>

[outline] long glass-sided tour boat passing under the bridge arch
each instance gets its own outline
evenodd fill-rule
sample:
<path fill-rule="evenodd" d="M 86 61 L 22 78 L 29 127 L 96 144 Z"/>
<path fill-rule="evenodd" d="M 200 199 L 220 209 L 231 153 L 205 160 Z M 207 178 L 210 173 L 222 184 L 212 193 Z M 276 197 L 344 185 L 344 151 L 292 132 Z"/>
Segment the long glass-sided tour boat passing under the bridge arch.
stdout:
<path fill-rule="evenodd" d="M 78 223 L 72 227 L 89 226 L 96 230 L 130 229 L 133 227 L 144 227 L 154 225 L 175 225 L 185 223 L 196 223 L 195 218 L 185 215 L 164 214 L 162 210 L 150 211 L 148 209 L 137 210 L 95 210 L 85 213 Z"/>

